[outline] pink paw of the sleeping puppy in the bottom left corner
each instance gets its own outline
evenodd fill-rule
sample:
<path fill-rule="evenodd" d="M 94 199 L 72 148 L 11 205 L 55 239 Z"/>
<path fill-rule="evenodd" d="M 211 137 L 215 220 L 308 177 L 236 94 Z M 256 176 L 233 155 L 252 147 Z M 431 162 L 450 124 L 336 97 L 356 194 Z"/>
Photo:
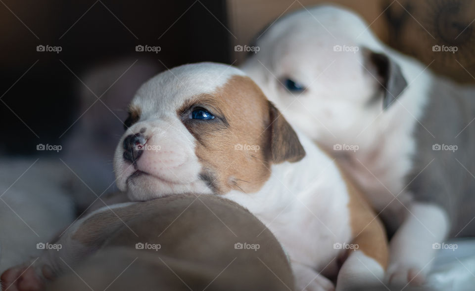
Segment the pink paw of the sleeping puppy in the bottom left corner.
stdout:
<path fill-rule="evenodd" d="M 0 281 L 3 291 L 41 291 L 45 287 L 44 279 L 38 275 L 33 265 L 9 268 L 3 272 Z"/>

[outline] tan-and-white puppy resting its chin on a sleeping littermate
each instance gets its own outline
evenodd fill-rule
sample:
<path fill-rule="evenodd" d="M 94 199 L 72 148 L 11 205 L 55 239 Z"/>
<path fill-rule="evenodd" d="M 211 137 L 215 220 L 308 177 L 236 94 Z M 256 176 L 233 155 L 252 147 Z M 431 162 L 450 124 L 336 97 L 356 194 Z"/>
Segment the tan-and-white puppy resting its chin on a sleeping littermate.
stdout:
<path fill-rule="evenodd" d="M 337 290 L 383 276 L 386 241 L 374 213 L 240 70 L 200 63 L 161 73 L 138 90 L 126 124 L 114 167 L 131 200 L 193 192 L 238 202 L 281 241 L 300 290 L 332 289 L 324 275 L 336 275 L 348 244 L 359 249 Z"/>

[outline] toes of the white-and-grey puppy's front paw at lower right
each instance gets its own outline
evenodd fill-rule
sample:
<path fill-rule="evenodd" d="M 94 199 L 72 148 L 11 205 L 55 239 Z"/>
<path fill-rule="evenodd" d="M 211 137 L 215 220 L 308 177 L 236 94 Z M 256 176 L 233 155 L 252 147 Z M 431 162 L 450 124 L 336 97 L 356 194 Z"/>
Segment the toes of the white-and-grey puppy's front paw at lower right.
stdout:
<path fill-rule="evenodd" d="M 388 268 L 386 281 L 389 284 L 421 286 L 426 283 L 422 268 L 408 265 L 394 265 Z"/>

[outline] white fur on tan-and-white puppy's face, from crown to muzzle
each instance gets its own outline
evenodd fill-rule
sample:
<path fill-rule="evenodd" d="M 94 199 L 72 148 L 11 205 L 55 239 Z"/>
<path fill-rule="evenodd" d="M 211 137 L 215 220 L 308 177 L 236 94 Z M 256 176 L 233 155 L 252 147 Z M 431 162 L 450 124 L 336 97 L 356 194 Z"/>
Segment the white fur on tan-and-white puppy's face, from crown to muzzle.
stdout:
<path fill-rule="evenodd" d="M 194 137 L 177 118 L 177 110 L 187 99 L 214 92 L 234 75 L 244 73 L 222 64 L 200 63 L 165 71 L 144 83 L 131 103 L 140 104 L 140 120 L 117 145 L 114 158 L 117 187 L 128 192 L 132 200 L 139 201 L 156 198 L 160 193 L 211 193 L 199 180 L 201 165 L 194 155 Z M 142 127 L 150 139 L 143 158 L 134 168 L 122 158 L 122 143 L 127 135 L 139 132 Z M 131 183 L 127 179 L 137 169 L 148 175 Z"/>

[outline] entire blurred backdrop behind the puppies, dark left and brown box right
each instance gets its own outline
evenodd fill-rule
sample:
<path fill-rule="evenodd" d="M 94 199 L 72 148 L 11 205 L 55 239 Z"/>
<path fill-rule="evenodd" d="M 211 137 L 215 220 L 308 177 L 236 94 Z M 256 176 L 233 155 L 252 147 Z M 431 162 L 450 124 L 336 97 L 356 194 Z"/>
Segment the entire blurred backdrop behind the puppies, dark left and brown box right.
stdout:
<path fill-rule="evenodd" d="M 0 0 L 0 153 L 55 154 L 38 152 L 39 144 L 71 151 L 67 140 L 81 130 L 90 132 L 89 142 L 114 144 L 126 104 L 146 79 L 190 62 L 238 65 L 245 52 L 235 45 L 319 2 Z M 475 83 L 475 1 L 325 2 L 357 11 L 383 42 L 432 71 Z M 433 45 L 458 50 L 433 51 Z"/>

